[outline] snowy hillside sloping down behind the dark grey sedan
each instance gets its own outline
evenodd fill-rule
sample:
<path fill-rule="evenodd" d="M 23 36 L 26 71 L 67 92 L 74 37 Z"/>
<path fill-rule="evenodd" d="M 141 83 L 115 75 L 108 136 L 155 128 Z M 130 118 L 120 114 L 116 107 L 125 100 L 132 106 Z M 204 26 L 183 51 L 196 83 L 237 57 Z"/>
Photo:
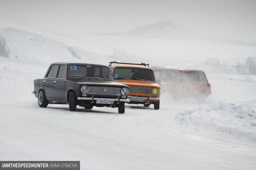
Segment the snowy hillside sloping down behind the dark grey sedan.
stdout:
<path fill-rule="evenodd" d="M 61 61 L 108 63 L 109 61 L 91 51 L 14 28 L 0 29 L 0 56 L 45 63 Z"/>

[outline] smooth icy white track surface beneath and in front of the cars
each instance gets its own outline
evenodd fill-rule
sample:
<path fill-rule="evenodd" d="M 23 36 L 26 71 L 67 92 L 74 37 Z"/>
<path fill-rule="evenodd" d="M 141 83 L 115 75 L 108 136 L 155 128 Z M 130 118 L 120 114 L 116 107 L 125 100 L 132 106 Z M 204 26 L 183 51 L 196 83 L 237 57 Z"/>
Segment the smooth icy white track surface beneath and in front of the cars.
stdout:
<path fill-rule="evenodd" d="M 69 111 L 36 98 L 0 104 L 0 159 L 81 161 L 81 169 L 254 169 L 255 143 L 181 128 L 179 111 L 196 104 Z"/>

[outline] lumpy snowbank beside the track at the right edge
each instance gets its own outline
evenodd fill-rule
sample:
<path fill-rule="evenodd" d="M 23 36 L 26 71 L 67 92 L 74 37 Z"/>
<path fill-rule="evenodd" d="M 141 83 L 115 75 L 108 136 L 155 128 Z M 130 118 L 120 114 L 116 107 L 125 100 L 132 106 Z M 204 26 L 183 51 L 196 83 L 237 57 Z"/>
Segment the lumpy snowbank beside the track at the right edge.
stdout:
<path fill-rule="evenodd" d="M 179 112 L 181 126 L 224 138 L 244 138 L 256 142 L 256 100 L 219 102 L 206 108 Z"/>

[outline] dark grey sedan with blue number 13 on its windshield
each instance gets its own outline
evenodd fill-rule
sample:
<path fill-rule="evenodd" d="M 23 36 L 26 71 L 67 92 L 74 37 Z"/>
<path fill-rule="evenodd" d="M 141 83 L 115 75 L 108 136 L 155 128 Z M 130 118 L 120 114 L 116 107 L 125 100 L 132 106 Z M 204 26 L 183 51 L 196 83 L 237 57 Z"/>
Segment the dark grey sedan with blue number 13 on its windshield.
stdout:
<path fill-rule="evenodd" d="M 34 80 L 34 91 L 40 107 L 48 104 L 76 106 L 118 107 L 125 112 L 128 86 L 116 83 L 106 65 L 88 63 L 52 63 L 44 78 Z"/>

